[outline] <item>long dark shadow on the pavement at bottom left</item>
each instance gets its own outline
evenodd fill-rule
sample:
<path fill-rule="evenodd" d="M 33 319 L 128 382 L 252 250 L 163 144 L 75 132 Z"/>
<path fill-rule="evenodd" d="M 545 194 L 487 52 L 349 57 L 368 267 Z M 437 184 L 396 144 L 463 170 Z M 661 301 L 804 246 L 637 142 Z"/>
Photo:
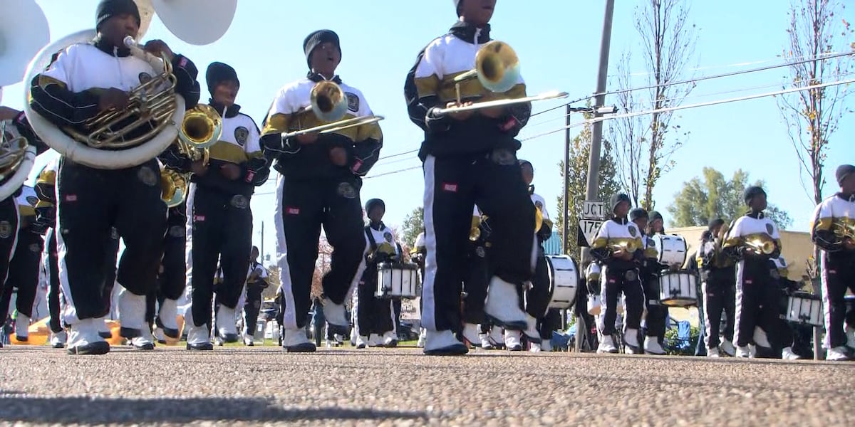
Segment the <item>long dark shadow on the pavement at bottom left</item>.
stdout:
<path fill-rule="evenodd" d="M 50 424 L 188 423 L 193 421 L 427 420 L 424 412 L 319 407 L 285 409 L 266 398 L 109 399 L 27 397 L 14 391 L 0 397 L 4 422 Z"/>

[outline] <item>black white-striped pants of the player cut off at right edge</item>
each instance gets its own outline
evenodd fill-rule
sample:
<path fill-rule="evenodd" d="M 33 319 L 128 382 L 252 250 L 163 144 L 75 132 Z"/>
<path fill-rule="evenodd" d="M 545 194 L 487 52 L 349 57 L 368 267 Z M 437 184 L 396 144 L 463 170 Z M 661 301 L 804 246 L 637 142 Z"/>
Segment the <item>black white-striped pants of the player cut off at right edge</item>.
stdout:
<path fill-rule="evenodd" d="M 846 313 L 846 289 L 855 292 L 855 254 L 828 254 L 823 251 L 822 284 L 825 309 L 825 347 L 846 344 L 843 324 L 855 328 L 855 310 Z"/>

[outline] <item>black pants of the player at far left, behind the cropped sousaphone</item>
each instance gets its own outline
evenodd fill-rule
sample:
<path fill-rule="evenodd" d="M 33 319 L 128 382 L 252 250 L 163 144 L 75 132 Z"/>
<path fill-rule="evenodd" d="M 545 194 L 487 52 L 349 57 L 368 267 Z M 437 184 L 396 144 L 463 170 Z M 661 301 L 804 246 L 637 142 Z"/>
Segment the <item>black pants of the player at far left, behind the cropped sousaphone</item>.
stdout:
<path fill-rule="evenodd" d="M 18 289 L 15 308 L 28 318 L 32 318 L 32 304 L 36 301 L 38 290 L 39 261 L 42 259 L 44 239 L 42 235 L 22 228 L 18 231 L 18 243 L 15 254 L 9 261 L 9 274 L 3 284 L 3 296 L 0 297 L 0 313 L 9 313 L 9 301 L 12 291 Z"/>

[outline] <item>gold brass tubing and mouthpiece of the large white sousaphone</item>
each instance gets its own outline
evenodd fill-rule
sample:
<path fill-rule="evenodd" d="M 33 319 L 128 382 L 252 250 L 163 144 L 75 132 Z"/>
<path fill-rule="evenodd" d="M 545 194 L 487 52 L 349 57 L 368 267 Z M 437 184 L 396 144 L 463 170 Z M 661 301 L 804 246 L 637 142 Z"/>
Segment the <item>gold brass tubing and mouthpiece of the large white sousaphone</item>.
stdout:
<path fill-rule="evenodd" d="M 145 52 L 131 36 L 127 36 L 124 41 L 133 56 L 148 61 L 151 67 L 162 69 L 163 72 L 133 88 L 127 100 L 127 108 L 111 108 L 86 120 L 84 127 L 88 133 L 79 132 L 70 126 L 65 128 L 74 139 L 94 149 L 125 149 L 143 143 L 171 125 L 173 114 L 178 108 L 175 101 L 177 80 L 172 63 L 166 56 L 158 58 Z M 134 119 L 127 123 L 131 118 Z M 141 126 L 151 126 L 151 129 L 143 135 L 126 139 Z"/>

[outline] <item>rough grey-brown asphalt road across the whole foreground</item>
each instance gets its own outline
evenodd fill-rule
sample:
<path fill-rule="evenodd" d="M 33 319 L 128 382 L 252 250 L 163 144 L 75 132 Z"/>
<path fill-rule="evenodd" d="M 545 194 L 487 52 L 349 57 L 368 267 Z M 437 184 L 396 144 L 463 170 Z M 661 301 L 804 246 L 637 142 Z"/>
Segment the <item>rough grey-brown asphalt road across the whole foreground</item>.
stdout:
<path fill-rule="evenodd" d="M 415 348 L 0 349 L 0 424 L 855 425 L 855 364 Z"/>

